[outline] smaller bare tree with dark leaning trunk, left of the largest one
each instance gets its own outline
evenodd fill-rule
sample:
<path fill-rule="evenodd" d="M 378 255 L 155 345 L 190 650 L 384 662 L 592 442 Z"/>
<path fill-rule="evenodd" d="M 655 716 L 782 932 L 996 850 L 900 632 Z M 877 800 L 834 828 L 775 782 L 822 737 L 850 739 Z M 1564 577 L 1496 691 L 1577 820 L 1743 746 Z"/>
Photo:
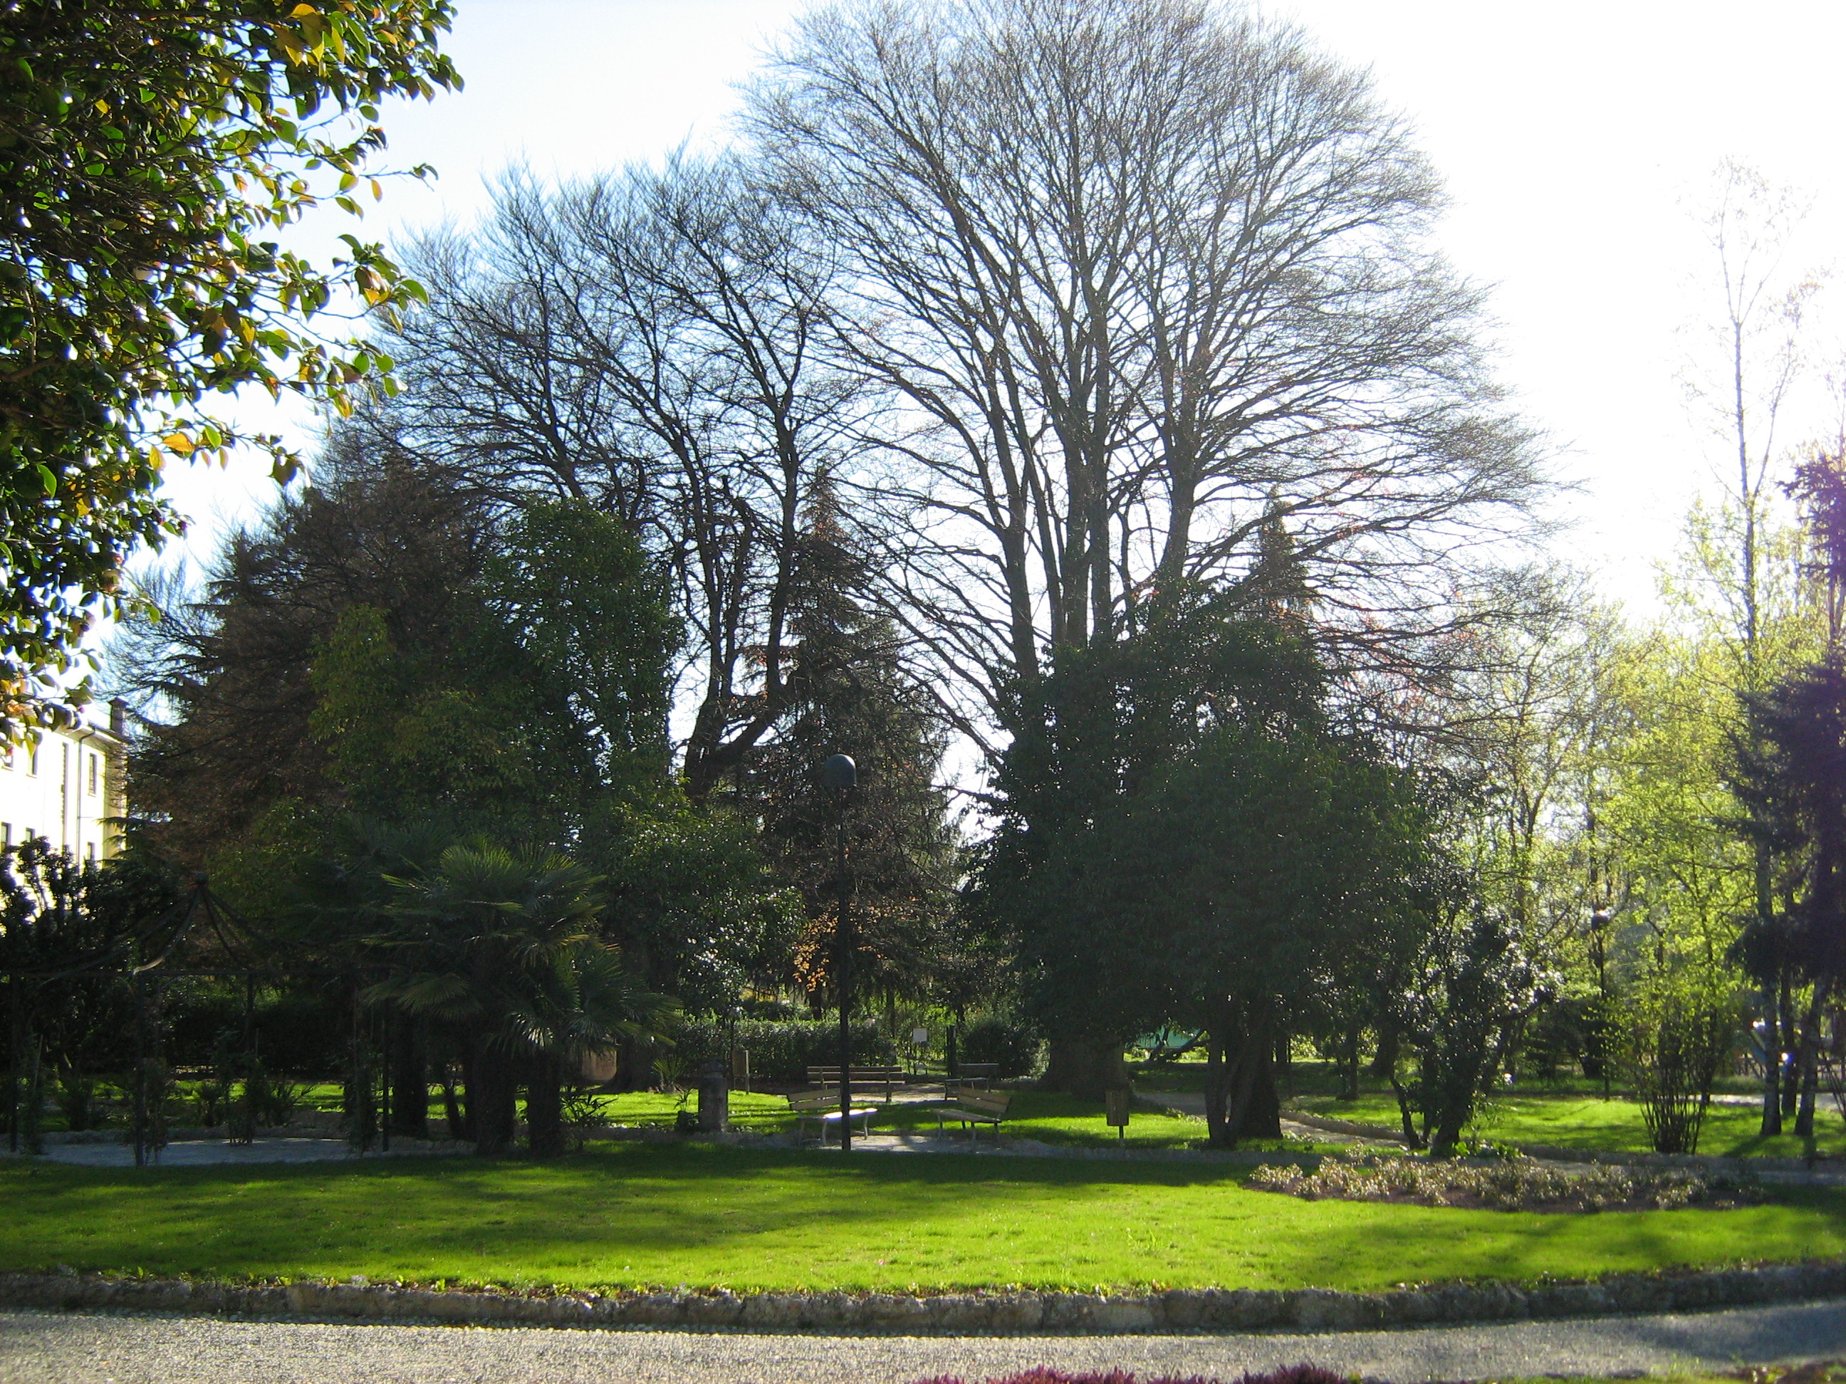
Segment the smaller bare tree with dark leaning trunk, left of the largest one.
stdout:
<path fill-rule="evenodd" d="M 515 173 L 417 266 L 386 421 L 497 498 L 593 500 L 670 565 L 703 797 L 785 709 L 797 517 L 853 399 L 814 351 L 825 260 L 735 162 L 676 159 L 556 194 Z"/>

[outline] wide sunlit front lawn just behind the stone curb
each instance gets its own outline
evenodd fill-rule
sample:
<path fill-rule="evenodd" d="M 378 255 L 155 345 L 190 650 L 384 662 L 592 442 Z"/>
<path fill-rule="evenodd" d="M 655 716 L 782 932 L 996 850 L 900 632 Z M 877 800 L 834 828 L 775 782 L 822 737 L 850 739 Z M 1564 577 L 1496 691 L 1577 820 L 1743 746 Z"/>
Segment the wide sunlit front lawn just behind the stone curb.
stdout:
<path fill-rule="evenodd" d="M 1846 1196 L 1540 1216 L 1300 1201 L 1239 1168 L 593 1146 L 557 1163 L 0 1164 L 0 1268 L 749 1288 L 1327 1286 L 1846 1253 Z"/>

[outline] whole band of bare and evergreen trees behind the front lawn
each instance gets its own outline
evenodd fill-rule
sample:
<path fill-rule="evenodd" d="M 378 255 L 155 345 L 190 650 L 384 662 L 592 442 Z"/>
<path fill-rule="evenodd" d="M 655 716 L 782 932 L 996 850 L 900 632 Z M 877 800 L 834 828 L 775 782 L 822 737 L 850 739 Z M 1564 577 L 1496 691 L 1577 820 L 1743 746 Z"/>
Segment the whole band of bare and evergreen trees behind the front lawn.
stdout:
<path fill-rule="evenodd" d="M 556 1148 L 600 1054 L 836 1002 L 842 886 L 881 1043 L 984 1015 L 1097 1096 L 1178 1028 L 1213 1142 L 1313 1044 L 1438 1153 L 1560 1067 L 1693 1146 L 1752 1017 L 1811 1129 L 1839 448 L 1785 511 L 1739 404 L 1669 616 L 1599 605 L 1530 563 L 1440 203 L 1287 28 L 818 11 L 735 148 L 515 170 L 408 257 L 401 389 L 118 648 L 142 867 L 360 969 L 404 1131 L 445 1080 L 485 1150 L 521 1089 Z"/>

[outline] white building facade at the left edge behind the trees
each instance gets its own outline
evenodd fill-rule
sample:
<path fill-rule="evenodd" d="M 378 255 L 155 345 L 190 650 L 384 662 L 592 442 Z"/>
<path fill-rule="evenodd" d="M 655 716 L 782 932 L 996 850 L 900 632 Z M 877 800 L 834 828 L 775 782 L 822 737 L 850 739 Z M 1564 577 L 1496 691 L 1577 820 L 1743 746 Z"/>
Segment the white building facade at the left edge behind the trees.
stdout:
<path fill-rule="evenodd" d="M 109 720 L 107 731 L 79 723 L 0 747 L 0 845 L 42 836 L 76 860 L 122 849 L 113 825 L 127 814 L 120 710 Z"/>

